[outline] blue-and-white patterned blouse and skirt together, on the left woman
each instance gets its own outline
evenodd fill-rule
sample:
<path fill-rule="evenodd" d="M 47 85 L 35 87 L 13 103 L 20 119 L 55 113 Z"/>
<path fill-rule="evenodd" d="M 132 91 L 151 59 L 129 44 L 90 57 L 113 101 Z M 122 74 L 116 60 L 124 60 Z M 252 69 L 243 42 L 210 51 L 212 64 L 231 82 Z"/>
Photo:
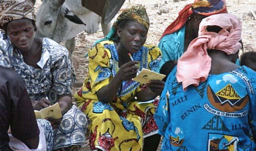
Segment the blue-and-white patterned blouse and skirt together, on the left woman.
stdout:
<path fill-rule="evenodd" d="M 75 75 L 71 69 L 68 50 L 48 38 L 43 39 L 40 68 L 27 65 L 23 56 L 15 48 L 5 32 L 0 30 L 0 65 L 12 68 L 24 80 L 31 100 L 48 97 L 52 103 L 57 102 L 58 95 L 71 94 L 71 84 Z M 61 124 L 54 129 L 53 149 L 71 145 L 86 144 L 87 117 L 73 106 L 63 115 Z M 72 131 L 72 132 L 71 132 Z"/>

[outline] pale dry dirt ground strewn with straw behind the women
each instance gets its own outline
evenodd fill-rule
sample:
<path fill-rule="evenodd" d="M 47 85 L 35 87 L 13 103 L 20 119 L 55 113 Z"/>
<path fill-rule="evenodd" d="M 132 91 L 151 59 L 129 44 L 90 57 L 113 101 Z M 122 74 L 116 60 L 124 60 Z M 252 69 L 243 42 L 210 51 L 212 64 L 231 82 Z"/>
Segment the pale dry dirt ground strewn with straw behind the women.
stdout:
<path fill-rule="evenodd" d="M 147 34 L 146 43 L 157 46 L 162 32 L 178 16 L 179 10 L 193 1 L 194 0 L 180 0 L 178 2 L 173 2 L 173 0 L 126 0 L 121 11 L 131 5 L 144 5 L 150 19 L 150 28 Z M 229 13 L 237 15 L 243 23 L 242 40 L 245 51 L 256 51 L 256 16 L 253 16 L 252 13 L 256 13 L 256 0 L 226 1 Z M 38 8 L 40 3 L 41 1 L 37 0 L 35 7 Z M 120 14 L 120 12 L 118 14 Z M 117 18 L 118 14 L 114 19 Z M 101 30 L 94 34 L 82 32 L 77 35 L 76 49 L 73 56 L 77 60 L 75 70 L 78 81 L 82 81 L 87 75 L 88 58 L 84 57 L 85 53 L 87 53 L 92 44 L 100 38 L 103 38 Z M 78 89 L 79 88 L 74 87 L 74 93 L 77 92 Z M 157 151 L 160 151 L 160 146 L 161 145 L 159 145 Z M 86 147 L 81 149 L 81 151 L 90 151 L 90 149 Z"/>

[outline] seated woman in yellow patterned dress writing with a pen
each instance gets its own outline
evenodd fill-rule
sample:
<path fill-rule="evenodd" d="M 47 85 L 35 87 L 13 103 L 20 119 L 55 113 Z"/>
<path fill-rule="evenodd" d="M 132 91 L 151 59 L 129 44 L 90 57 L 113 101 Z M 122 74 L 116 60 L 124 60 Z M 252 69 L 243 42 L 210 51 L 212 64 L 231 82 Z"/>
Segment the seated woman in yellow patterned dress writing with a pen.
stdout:
<path fill-rule="evenodd" d="M 132 80 L 142 68 L 155 71 L 161 59 L 159 48 L 145 44 L 148 28 L 145 8 L 132 6 L 89 50 L 88 77 L 75 98 L 91 120 L 91 150 L 157 150 L 160 136 L 153 114 L 164 82 Z"/>

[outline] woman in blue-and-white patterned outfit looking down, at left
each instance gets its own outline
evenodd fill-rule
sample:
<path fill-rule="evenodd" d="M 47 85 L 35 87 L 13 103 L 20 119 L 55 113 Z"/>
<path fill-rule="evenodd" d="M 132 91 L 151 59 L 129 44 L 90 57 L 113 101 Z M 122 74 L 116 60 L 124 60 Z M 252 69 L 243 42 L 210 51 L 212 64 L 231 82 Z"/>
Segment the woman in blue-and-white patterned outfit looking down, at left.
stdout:
<path fill-rule="evenodd" d="M 35 110 L 59 103 L 63 117 L 47 118 L 54 132 L 53 150 L 83 146 L 87 119 L 72 107 L 75 76 L 67 49 L 50 39 L 34 38 L 35 18 L 29 0 L 1 0 L 0 8 L 0 65 L 22 77 Z"/>

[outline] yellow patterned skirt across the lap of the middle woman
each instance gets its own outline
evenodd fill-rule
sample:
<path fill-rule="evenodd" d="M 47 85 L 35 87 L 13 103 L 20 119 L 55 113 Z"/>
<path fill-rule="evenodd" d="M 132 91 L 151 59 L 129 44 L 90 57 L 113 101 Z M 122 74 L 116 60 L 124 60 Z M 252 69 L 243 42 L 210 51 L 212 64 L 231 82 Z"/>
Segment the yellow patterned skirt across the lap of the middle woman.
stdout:
<path fill-rule="evenodd" d="M 95 147 L 107 149 L 115 144 L 119 145 L 119 148 L 123 145 L 141 147 L 143 137 L 151 136 L 158 131 L 153 119 L 157 104 L 158 100 L 142 104 L 133 101 L 127 103 L 127 109 L 117 109 L 118 105 L 115 103 L 110 105 L 100 101 L 85 101 L 80 106 L 92 121 L 89 125 L 91 150 Z M 101 139 L 108 136 L 111 143 L 104 145 L 103 143 L 107 142 L 105 140 L 101 144 Z"/>

